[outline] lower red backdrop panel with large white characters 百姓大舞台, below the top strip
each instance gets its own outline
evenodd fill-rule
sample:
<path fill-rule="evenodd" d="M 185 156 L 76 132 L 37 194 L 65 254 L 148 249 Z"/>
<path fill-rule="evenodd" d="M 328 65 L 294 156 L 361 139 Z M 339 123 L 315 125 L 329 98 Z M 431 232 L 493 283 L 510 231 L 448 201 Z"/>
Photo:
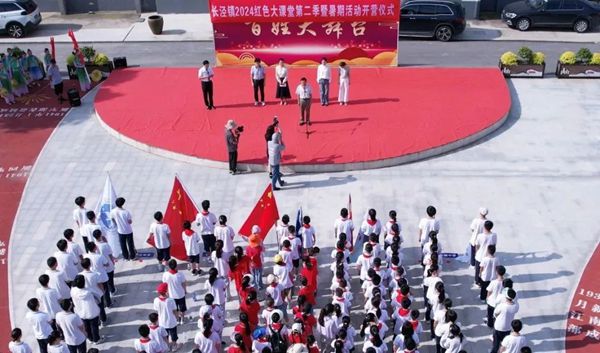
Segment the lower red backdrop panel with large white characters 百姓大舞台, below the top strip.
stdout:
<path fill-rule="evenodd" d="M 274 65 L 317 65 L 321 58 L 336 65 L 396 66 L 398 22 L 215 23 L 217 65 L 251 65 L 260 58 Z"/>

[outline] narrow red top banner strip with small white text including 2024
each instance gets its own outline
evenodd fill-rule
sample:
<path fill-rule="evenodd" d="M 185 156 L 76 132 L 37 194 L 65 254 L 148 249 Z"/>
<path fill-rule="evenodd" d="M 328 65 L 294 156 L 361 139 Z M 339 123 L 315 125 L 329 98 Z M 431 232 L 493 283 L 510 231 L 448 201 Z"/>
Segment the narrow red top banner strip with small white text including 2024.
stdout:
<path fill-rule="evenodd" d="M 398 21 L 398 0 L 210 0 L 212 23 Z"/>

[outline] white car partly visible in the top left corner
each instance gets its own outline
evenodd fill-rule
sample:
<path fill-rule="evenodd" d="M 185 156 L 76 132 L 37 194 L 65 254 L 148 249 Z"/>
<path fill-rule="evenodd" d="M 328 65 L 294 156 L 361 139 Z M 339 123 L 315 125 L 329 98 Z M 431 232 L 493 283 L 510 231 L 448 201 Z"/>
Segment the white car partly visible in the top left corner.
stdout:
<path fill-rule="evenodd" d="M 21 38 L 42 22 L 40 8 L 33 0 L 0 0 L 0 31 Z"/>

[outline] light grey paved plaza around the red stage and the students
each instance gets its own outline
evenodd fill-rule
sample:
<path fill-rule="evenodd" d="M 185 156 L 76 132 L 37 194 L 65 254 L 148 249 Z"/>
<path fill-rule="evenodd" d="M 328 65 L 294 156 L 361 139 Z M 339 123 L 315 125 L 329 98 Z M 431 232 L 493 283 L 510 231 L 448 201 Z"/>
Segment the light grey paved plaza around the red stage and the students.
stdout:
<path fill-rule="evenodd" d="M 598 84 L 545 79 L 516 80 L 511 85 L 511 116 L 485 141 L 394 168 L 288 176 L 290 186 L 276 197 L 281 213 L 294 214 L 301 205 L 313 216 L 318 244 L 326 250 L 333 246 L 332 224 L 349 192 L 356 215 L 368 207 L 382 216 L 396 209 L 406 239 L 405 263 L 416 293 L 421 283 L 419 267 L 414 265 L 416 224 L 424 208 L 428 204 L 438 207 L 446 251 L 462 252 L 470 220 L 480 206 L 487 206 L 497 224 L 500 259 L 519 292 L 524 332 L 533 341 L 534 351 L 562 352 L 571 290 L 600 237 L 590 227 L 600 196 Z M 222 170 L 173 162 L 121 144 L 93 117 L 91 98 L 49 140 L 32 171 L 15 222 L 10 248 L 12 320 L 25 328 L 29 338 L 31 332 L 23 321 L 25 301 L 34 292 L 45 258 L 54 251 L 47 244 L 53 244 L 71 225 L 75 196 L 86 195 L 88 204 L 95 204 L 105 172 L 111 173 L 117 192 L 129 200 L 139 247 L 152 213 L 165 207 L 174 173 L 179 173 L 197 202 L 210 199 L 214 211 L 229 215 L 234 227 L 244 221 L 267 182 L 265 174 L 229 176 Z M 270 235 L 268 254 L 274 252 L 273 242 Z M 327 256 L 320 258 L 321 264 L 328 262 Z M 444 281 L 467 337 L 466 349 L 485 352 L 490 332 L 482 324 L 485 308 L 471 289 L 471 270 L 455 262 L 444 266 Z M 330 278 L 323 269 L 323 287 Z M 198 291 L 204 281 L 188 279 L 192 291 Z M 118 264 L 118 306 L 110 312 L 110 326 L 102 330 L 107 336 L 103 351 L 133 352 L 131 340 L 150 312 L 158 280 L 153 261 Z M 358 288 L 356 280 L 353 286 Z M 188 299 L 188 304 L 197 319 L 198 303 Z M 358 315 L 360 310 L 354 310 Z M 186 324 L 182 331 L 182 340 L 188 342 L 184 351 L 189 351 L 195 325 Z M 421 351 L 433 352 L 427 340 Z"/>

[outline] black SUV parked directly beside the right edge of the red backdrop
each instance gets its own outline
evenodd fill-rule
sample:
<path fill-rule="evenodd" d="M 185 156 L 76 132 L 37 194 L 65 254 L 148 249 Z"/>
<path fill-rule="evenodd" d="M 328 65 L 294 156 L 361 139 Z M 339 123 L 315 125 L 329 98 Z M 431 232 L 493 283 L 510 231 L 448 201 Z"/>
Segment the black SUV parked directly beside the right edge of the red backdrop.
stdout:
<path fill-rule="evenodd" d="M 400 36 L 447 42 L 465 30 L 465 9 L 457 0 L 407 0 L 400 8 Z"/>

